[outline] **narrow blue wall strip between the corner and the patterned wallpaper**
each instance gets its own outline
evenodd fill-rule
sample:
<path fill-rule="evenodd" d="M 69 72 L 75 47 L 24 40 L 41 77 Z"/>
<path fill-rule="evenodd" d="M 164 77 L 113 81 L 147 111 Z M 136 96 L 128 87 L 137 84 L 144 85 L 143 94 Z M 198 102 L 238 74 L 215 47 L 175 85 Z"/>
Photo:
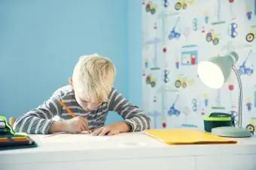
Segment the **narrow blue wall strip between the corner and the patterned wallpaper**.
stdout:
<path fill-rule="evenodd" d="M 142 1 L 128 1 L 129 99 L 142 106 Z"/>

